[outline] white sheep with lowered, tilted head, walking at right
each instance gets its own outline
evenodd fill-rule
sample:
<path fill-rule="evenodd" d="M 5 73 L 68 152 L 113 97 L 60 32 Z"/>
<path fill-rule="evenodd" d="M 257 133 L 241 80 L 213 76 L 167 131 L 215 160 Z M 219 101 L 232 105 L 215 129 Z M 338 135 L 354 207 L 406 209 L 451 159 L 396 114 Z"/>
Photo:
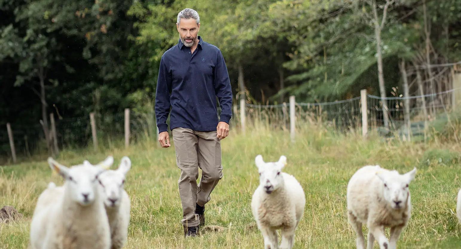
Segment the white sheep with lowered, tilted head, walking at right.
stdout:
<path fill-rule="evenodd" d="M 411 196 L 408 184 L 414 179 L 416 168 L 406 174 L 387 170 L 378 165 L 367 165 L 355 172 L 347 187 L 348 220 L 357 233 L 357 249 L 365 248 L 362 224 L 368 227 L 367 248 L 374 240 L 381 249 L 395 249 L 403 228 L 411 216 Z M 387 240 L 384 228 L 390 227 Z"/>

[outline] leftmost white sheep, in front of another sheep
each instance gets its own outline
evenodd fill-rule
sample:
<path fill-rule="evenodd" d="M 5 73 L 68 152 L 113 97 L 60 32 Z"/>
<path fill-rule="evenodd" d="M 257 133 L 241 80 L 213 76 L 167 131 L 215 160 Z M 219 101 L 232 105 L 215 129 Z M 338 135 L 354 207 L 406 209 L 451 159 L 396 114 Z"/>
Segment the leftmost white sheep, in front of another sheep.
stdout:
<path fill-rule="evenodd" d="M 109 222 L 97 180 L 112 156 L 101 165 L 88 161 L 67 168 L 53 158 L 50 167 L 64 179 L 62 187 L 54 183 L 37 200 L 30 224 L 31 249 L 110 249 Z"/>

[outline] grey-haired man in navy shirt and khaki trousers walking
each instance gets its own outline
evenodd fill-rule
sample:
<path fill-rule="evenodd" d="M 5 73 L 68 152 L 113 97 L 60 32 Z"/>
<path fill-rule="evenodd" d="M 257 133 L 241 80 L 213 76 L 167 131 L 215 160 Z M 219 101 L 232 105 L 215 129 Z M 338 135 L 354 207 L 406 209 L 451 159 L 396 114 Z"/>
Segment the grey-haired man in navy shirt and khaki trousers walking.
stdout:
<path fill-rule="evenodd" d="M 177 15 L 179 41 L 160 60 L 155 116 L 159 142 L 170 147 L 166 119 L 176 151 L 183 206 L 184 236 L 197 236 L 205 222 L 205 204 L 222 179 L 220 140 L 228 136 L 232 90 L 221 51 L 198 36 L 200 18 L 192 9 Z M 216 97 L 221 107 L 218 120 Z M 202 170 L 197 185 L 198 168 Z"/>

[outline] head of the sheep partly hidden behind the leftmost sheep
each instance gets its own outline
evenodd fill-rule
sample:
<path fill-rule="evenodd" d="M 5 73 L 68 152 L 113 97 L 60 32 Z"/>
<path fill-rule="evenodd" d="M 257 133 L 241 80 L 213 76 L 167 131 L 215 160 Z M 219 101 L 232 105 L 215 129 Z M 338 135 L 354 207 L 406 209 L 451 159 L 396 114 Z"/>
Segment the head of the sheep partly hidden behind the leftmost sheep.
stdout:
<path fill-rule="evenodd" d="M 124 156 L 117 170 L 106 170 L 100 174 L 98 180 L 103 188 L 106 207 L 111 208 L 120 205 L 125 175 L 130 170 L 130 167 L 130 158 Z"/>

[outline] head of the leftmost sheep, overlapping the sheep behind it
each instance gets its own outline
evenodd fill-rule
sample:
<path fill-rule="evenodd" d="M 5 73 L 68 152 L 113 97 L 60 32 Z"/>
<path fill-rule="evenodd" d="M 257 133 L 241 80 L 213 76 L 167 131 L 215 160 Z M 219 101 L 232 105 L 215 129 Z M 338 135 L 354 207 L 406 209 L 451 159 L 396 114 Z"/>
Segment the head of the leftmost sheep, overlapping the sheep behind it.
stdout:
<path fill-rule="evenodd" d="M 53 170 L 65 179 L 66 194 L 69 195 L 72 201 L 82 206 L 88 206 L 94 202 L 98 191 L 97 178 L 105 170 L 104 167 L 94 167 L 85 160 L 83 164 L 67 168 L 54 161 L 51 157 L 48 158 L 48 163 Z"/>

